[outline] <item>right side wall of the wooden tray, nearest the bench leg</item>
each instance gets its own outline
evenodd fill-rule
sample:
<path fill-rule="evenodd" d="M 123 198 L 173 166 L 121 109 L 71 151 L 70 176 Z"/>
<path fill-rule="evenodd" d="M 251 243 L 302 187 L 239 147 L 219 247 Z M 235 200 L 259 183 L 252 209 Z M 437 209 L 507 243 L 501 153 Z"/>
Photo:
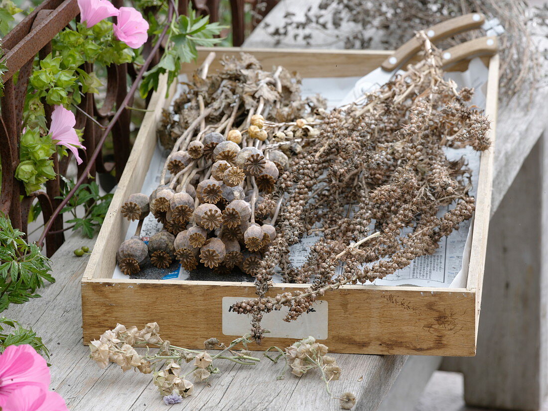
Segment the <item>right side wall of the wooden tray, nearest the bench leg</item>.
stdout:
<path fill-rule="evenodd" d="M 496 114 L 499 102 L 499 55 L 491 57 L 489 61 L 489 75 L 487 80 L 486 115 L 491 121 L 488 137 L 491 141 L 489 149 L 481 155 L 479 167 L 479 181 L 476 195 L 476 211 L 473 223 L 472 250 L 466 288 L 476 291 L 476 331 L 479 326 L 479 311 L 481 309 L 481 293 L 483 273 L 485 270 L 485 256 L 487 252 L 487 235 L 489 233 L 489 219 L 491 214 L 491 198 L 493 192 L 493 169 L 496 138 Z"/>

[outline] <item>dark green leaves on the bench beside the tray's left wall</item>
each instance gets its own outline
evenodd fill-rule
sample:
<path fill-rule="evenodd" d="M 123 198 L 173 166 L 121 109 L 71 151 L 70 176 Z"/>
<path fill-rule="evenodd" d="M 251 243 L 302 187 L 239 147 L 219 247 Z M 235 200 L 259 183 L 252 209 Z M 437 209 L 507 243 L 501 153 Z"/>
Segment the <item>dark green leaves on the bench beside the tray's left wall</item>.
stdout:
<path fill-rule="evenodd" d="M 70 180 L 65 180 L 65 189 L 60 198 L 65 198 L 66 194 L 75 186 Z M 82 233 L 89 238 L 93 238 L 95 231 L 101 227 L 105 220 L 106 212 L 109 210 L 112 194 L 99 194 L 99 186 L 95 181 L 89 184 L 82 184 L 76 190 L 76 193 L 68 201 L 68 205 L 61 211 L 70 212 L 74 218 L 67 220 L 67 223 L 73 223 L 72 230 L 82 229 Z M 77 207 L 84 207 L 83 217 L 77 216 Z"/>

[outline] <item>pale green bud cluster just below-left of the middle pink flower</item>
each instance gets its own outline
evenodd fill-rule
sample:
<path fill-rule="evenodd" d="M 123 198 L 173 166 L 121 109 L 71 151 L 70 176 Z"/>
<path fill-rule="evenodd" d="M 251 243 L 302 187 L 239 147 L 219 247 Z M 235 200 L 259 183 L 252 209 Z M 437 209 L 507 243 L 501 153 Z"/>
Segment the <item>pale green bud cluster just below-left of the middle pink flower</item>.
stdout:
<path fill-rule="evenodd" d="M 42 137 L 38 128 L 27 128 L 21 136 L 20 163 L 15 170 L 15 177 L 24 183 L 27 195 L 55 178 L 51 159 L 55 148 L 52 137 L 49 134 Z"/>

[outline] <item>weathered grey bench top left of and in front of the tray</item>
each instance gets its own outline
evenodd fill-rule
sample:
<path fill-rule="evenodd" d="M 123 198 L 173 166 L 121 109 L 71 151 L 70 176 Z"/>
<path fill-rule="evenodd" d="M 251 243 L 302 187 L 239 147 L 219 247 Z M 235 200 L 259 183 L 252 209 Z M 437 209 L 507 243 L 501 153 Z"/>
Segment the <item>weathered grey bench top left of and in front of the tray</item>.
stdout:
<path fill-rule="evenodd" d="M 79 283 L 88 258 L 73 254 L 75 248 L 92 248 L 94 243 L 95 239 L 77 234 L 68 238 L 53 256 L 52 274 L 56 282 L 40 291 L 42 298 L 25 305 L 12 305 L 2 313 L 32 326 L 43 337 L 52 352 L 50 389 L 65 398 L 71 411 L 340 409 L 338 401 L 329 400 L 316 374 L 299 379 L 287 372 L 286 379 L 278 381 L 276 375 L 282 364 L 272 364 L 266 358 L 256 367 L 222 363 L 222 373 L 212 379 L 212 386 L 196 384 L 195 393 L 173 407 L 162 402 L 150 374 L 122 373 L 112 364 L 100 369 L 88 358 L 89 349 L 82 344 Z M 256 352 L 255 356 L 261 357 L 262 353 Z M 357 397 L 354 409 L 368 411 L 379 406 L 407 359 L 403 356 L 333 356 L 343 369 L 340 380 L 331 384 L 333 393 L 353 392 Z"/>

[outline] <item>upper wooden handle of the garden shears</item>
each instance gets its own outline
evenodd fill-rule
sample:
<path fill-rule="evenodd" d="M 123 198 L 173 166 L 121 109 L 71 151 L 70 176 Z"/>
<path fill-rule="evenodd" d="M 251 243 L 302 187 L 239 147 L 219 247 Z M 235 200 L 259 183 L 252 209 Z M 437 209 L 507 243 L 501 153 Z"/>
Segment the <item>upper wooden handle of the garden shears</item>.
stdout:
<path fill-rule="evenodd" d="M 472 30 L 472 28 L 481 27 L 485 22 L 485 16 L 481 13 L 465 14 L 453 19 L 443 21 L 425 30 L 426 36 L 432 42 L 442 40 L 447 37 L 463 31 Z M 413 37 L 407 43 L 398 48 L 392 56 L 388 57 L 380 66 L 383 70 L 394 71 L 404 65 L 411 57 L 413 57 L 420 48 L 423 42 L 420 39 Z"/>

